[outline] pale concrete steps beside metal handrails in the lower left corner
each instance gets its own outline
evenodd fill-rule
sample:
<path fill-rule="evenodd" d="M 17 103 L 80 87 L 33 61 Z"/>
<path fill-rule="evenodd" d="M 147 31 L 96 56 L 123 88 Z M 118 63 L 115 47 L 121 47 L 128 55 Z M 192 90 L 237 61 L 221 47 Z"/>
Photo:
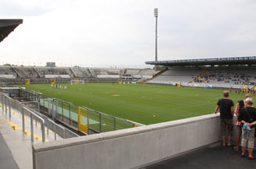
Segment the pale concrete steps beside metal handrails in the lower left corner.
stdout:
<path fill-rule="evenodd" d="M 22 132 L 22 116 L 15 109 L 5 114 L 0 105 L 0 169 L 32 169 L 32 142 L 30 118 L 25 116 L 26 134 Z M 54 141 L 55 134 L 45 129 L 46 141 Z M 62 139 L 56 136 L 56 139 Z M 41 143 L 41 125 L 34 122 L 34 144 Z"/>

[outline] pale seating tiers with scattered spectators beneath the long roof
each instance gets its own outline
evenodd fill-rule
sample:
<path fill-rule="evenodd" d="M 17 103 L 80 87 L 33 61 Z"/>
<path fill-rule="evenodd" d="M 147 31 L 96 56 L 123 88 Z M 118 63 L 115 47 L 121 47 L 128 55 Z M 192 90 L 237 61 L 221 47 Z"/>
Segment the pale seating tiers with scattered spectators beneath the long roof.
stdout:
<path fill-rule="evenodd" d="M 214 87 L 241 88 L 256 85 L 255 67 L 201 67 L 171 68 L 148 83 L 211 85 Z"/>

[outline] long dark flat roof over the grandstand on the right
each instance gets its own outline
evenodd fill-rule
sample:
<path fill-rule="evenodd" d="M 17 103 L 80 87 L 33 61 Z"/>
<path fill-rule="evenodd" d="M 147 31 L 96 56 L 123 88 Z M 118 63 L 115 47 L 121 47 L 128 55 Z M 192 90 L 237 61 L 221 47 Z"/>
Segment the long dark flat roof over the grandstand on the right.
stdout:
<path fill-rule="evenodd" d="M 256 56 L 235 57 L 235 58 L 200 58 L 146 62 L 147 65 L 167 65 L 167 66 L 186 66 L 186 65 L 255 65 Z"/>

